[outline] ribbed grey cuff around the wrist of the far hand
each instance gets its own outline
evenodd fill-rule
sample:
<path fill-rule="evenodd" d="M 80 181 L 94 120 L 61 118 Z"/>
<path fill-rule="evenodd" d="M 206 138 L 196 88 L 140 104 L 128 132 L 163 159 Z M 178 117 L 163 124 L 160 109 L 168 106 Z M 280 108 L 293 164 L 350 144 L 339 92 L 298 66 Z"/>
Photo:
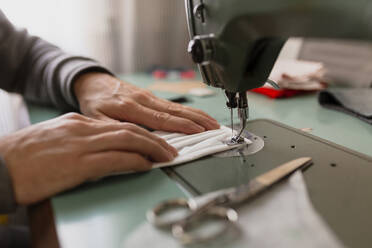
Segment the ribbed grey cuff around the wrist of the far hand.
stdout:
<path fill-rule="evenodd" d="M 60 70 L 61 82 L 63 83 L 61 85 L 62 95 L 74 110 L 79 110 L 79 102 L 74 94 L 73 83 L 78 76 L 87 72 L 103 72 L 113 75 L 113 73 L 97 62 L 84 58 L 68 60 Z"/>

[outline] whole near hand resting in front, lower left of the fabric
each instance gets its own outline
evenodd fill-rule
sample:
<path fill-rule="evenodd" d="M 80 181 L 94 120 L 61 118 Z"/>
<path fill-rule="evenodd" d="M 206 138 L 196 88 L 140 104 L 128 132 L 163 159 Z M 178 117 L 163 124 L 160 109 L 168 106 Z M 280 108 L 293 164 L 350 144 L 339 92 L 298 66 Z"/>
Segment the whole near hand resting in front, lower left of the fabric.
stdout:
<path fill-rule="evenodd" d="M 177 151 L 134 124 L 67 114 L 1 138 L 0 154 L 17 203 L 31 204 L 87 180 L 149 170 Z"/>

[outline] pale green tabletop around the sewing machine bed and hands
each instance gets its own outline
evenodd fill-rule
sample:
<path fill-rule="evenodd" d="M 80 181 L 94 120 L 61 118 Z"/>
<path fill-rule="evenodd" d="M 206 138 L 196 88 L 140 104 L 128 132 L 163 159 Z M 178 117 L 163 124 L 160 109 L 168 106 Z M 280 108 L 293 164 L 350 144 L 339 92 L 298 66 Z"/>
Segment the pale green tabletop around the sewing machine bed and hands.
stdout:
<path fill-rule="evenodd" d="M 123 76 L 140 87 L 154 81 L 146 74 Z M 229 112 L 221 90 L 211 97 L 187 96 L 189 106 L 200 108 L 221 124 L 229 124 Z M 179 96 L 155 92 L 159 97 Z M 273 100 L 249 93 L 250 119 L 267 118 L 295 128 L 311 128 L 311 134 L 372 156 L 372 126 L 318 104 L 315 94 Z M 60 115 L 52 108 L 29 104 L 31 122 Z M 62 247 L 120 247 L 141 225 L 146 211 L 163 199 L 185 196 L 185 191 L 161 170 L 114 176 L 87 183 L 52 199 L 58 239 Z"/>

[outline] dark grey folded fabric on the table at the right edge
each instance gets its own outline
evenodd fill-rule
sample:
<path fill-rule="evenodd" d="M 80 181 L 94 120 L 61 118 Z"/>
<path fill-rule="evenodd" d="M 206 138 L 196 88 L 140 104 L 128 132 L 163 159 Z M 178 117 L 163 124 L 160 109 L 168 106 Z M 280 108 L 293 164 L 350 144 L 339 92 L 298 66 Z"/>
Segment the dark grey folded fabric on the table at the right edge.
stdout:
<path fill-rule="evenodd" d="M 372 124 L 372 89 L 328 89 L 319 93 L 320 105 L 355 116 Z"/>

